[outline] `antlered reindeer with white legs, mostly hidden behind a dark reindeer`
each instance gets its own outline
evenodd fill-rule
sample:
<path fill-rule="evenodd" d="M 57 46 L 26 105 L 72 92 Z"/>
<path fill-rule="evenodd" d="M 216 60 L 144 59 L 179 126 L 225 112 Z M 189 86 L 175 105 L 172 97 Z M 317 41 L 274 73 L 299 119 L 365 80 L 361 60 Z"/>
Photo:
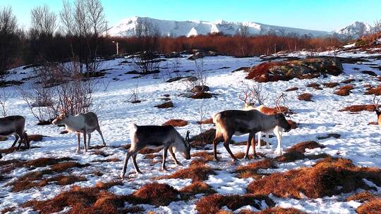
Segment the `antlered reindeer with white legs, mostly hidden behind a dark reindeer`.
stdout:
<path fill-rule="evenodd" d="M 241 99 L 241 101 L 243 101 L 245 103 L 245 107 L 243 108 L 243 110 L 245 110 L 245 111 L 257 110 L 260 113 L 263 113 L 265 115 L 277 115 L 277 114 L 283 114 L 286 116 L 289 115 L 289 108 L 284 107 L 284 106 L 280 106 L 280 101 L 282 101 L 282 100 L 284 102 L 286 101 L 283 93 L 275 101 L 275 106 L 276 106 L 275 108 L 265 106 L 264 101 L 267 99 L 267 96 L 262 94 L 262 87 L 260 86 L 260 84 L 255 85 L 252 88 L 248 88 L 248 89 L 244 90 L 243 91 L 243 97 L 240 95 L 239 99 Z M 254 105 L 256 102 L 259 103 L 259 106 L 255 107 Z M 257 144 L 256 148 L 260 149 L 261 137 L 262 137 L 262 134 L 265 134 L 266 148 L 270 149 L 269 134 L 272 132 L 274 132 L 274 134 L 277 136 L 279 135 L 276 153 L 282 154 L 281 141 L 282 141 L 283 129 L 279 129 L 279 127 L 277 127 L 274 130 L 267 130 L 265 132 L 258 132 L 258 144 Z M 275 133 L 275 132 L 279 132 L 279 133 Z"/>

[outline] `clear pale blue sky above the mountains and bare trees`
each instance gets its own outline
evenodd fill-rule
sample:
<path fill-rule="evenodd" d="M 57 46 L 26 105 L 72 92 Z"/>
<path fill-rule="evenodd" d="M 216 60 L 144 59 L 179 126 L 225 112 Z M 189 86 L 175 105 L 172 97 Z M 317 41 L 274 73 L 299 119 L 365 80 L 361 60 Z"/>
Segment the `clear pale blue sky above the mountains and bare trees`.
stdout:
<path fill-rule="evenodd" d="M 12 6 L 18 23 L 28 27 L 30 9 L 47 4 L 57 13 L 61 0 L 0 0 Z M 381 19 L 379 0 L 102 0 L 109 25 L 131 16 L 164 20 L 254 21 L 311 30 L 336 30 L 356 20 Z"/>

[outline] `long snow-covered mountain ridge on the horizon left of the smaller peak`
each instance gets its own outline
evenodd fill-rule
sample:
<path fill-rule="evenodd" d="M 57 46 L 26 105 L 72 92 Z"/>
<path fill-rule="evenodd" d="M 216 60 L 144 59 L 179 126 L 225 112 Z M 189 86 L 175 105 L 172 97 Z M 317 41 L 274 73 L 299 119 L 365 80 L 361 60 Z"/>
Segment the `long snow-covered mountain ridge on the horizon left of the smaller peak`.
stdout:
<path fill-rule="evenodd" d="M 174 20 L 158 20 L 154 18 L 132 17 L 121 20 L 114 27 L 111 27 L 109 34 L 112 36 L 132 37 L 140 32 L 145 23 L 150 25 L 150 28 L 156 28 L 157 32 L 163 36 L 195 36 L 198 34 L 208 34 L 222 32 L 224 34 L 236 34 L 240 26 L 247 26 L 249 34 L 308 34 L 313 37 L 321 37 L 330 34 L 330 32 L 319 30 L 305 30 L 292 27 L 279 27 L 274 25 L 265 25 L 253 22 L 227 22 L 218 20 L 215 22 L 208 21 L 174 21 Z"/>

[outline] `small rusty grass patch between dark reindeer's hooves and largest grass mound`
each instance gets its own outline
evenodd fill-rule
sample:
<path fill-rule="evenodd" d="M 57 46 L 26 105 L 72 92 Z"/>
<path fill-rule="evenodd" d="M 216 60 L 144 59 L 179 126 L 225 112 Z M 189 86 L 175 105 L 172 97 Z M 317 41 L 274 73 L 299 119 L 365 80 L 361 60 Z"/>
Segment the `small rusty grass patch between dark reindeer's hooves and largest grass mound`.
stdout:
<path fill-rule="evenodd" d="M 259 169 L 270 168 L 277 168 L 277 166 L 274 164 L 274 160 L 266 158 L 264 160 L 258 160 L 252 163 L 248 163 L 248 165 L 240 165 L 237 167 L 236 173 L 238 173 L 237 177 L 239 178 L 254 177 L 258 179 L 262 177 L 262 175 L 258 174 Z"/>

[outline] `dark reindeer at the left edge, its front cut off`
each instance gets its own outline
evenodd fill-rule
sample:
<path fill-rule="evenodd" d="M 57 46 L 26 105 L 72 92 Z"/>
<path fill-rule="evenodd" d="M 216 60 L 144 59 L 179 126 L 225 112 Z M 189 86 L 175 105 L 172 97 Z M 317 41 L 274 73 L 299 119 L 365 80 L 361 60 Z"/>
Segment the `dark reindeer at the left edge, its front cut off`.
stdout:
<path fill-rule="evenodd" d="M 11 147 L 16 146 L 18 139 L 17 150 L 20 149 L 21 143 L 24 142 L 27 149 L 30 149 L 30 142 L 28 139 L 28 134 L 24 130 L 25 128 L 25 118 L 20 115 L 8 116 L 5 118 L 0 118 L 0 137 L 8 137 L 13 135 L 15 141 Z"/>

